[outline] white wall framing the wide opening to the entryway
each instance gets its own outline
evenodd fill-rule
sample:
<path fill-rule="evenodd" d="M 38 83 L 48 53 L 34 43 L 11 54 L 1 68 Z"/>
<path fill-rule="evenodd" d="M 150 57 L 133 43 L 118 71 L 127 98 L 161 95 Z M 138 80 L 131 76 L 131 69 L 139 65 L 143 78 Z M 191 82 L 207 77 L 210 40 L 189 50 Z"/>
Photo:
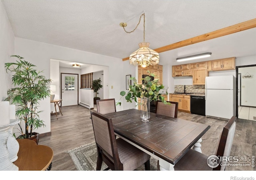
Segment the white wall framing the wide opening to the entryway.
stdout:
<path fill-rule="evenodd" d="M 107 78 L 104 77 L 104 82 L 106 79 L 109 80 L 109 84 L 113 85 L 113 89 L 109 89 L 110 98 L 119 99 L 120 91 L 125 89 L 123 78 L 125 74 L 123 73 L 123 63 L 122 59 L 113 58 L 109 56 L 103 56 L 100 54 L 94 54 L 90 52 L 85 52 L 81 50 L 75 50 L 71 48 L 66 48 L 62 46 L 56 46 L 52 44 L 36 42 L 32 40 L 27 40 L 23 38 L 15 38 L 15 54 L 20 55 L 25 58 L 25 60 L 35 64 L 40 70 L 44 70 L 44 76 L 50 78 L 50 59 L 75 61 L 86 64 L 96 64 L 100 66 L 108 66 L 109 73 Z M 130 65 L 126 67 L 130 69 Z M 81 70 L 82 73 L 82 70 Z M 84 73 L 82 73 L 84 74 Z M 104 72 L 105 74 L 105 72 Z M 125 81 L 124 81 L 125 82 Z M 106 88 L 107 88 L 106 87 Z M 105 88 L 105 87 L 104 87 Z M 105 97 L 105 94 L 104 94 Z M 44 110 L 40 114 L 42 120 L 44 120 L 46 127 L 37 130 L 39 133 L 50 132 L 50 98 L 47 98 L 40 103 L 40 109 Z M 123 106 L 120 106 L 120 110 Z"/>

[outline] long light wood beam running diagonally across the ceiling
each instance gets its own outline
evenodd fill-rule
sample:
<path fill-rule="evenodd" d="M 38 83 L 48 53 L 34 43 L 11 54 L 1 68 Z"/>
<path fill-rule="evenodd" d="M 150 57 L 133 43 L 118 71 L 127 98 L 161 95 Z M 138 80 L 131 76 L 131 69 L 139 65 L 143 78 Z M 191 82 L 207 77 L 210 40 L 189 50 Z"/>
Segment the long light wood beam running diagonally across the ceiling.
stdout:
<path fill-rule="evenodd" d="M 158 53 L 165 52 L 165 51 L 173 50 L 176 48 L 181 48 L 181 47 L 195 44 L 198 42 L 203 42 L 203 41 L 218 38 L 221 36 L 226 36 L 228 34 L 233 34 L 235 32 L 240 32 L 240 31 L 255 28 L 255 27 L 256 27 L 256 18 L 252 19 L 252 20 L 245 21 L 245 22 L 241 22 L 239 24 L 235 24 L 233 26 L 228 26 L 228 27 L 222 28 L 220 30 L 209 32 L 207 34 L 202 34 L 202 35 L 196 36 L 194 38 L 186 39 L 186 40 L 183 40 L 180 42 L 176 42 L 174 44 L 169 44 L 167 46 L 156 48 L 154 50 Z M 126 60 L 129 60 L 129 57 L 123 58 L 123 61 L 126 61 Z"/>

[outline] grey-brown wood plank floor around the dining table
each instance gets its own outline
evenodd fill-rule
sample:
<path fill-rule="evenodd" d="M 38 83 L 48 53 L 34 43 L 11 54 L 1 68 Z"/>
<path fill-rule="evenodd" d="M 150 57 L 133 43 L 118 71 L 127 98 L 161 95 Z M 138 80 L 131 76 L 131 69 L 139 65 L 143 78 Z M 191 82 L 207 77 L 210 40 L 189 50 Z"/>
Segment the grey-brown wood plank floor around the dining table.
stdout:
<path fill-rule="evenodd" d="M 38 144 L 52 148 L 52 170 L 76 170 L 67 151 L 94 141 L 90 110 L 79 105 L 62 107 L 61 110 L 63 116 L 58 115 L 58 120 L 56 116 L 51 116 L 51 135 L 40 137 Z M 208 156 L 214 154 L 218 138 L 227 121 L 185 112 L 178 112 L 178 118 L 210 125 L 211 128 L 202 136 L 201 148 Z M 248 158 L 252 155 L 256 155 L 256 122 L 238 119 L 230 156 Z M 228 166 L 226 170 L 255 169 L 251 166 Z"/>

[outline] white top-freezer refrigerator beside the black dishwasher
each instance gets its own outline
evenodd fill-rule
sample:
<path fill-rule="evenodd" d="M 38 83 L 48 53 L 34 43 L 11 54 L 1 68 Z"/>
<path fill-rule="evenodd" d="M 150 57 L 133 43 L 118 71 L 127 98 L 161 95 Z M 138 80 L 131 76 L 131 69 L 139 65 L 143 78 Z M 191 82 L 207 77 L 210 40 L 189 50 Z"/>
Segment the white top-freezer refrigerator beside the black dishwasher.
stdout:
<path fill-rule="evenodd" d="M 205 115 L 229 120 L 235 116 L 235 78 L 208 76 L 205 78 Z"/>

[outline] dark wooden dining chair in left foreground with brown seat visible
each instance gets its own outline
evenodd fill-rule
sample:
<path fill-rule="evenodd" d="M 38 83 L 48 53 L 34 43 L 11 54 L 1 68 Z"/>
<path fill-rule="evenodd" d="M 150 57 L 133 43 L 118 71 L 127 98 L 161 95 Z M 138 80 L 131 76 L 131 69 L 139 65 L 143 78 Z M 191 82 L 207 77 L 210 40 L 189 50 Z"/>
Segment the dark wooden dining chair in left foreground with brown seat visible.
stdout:
<path fill-rule="evenodd" d="M 150 170 L 150 155 L 125 140 L 114 136 L 112 119 L 91 110 L 92 125 L 98 152 L 96 170 L 101 170 L 102 162 L 111 170 L 134 170 L 145 165 Z"/>

